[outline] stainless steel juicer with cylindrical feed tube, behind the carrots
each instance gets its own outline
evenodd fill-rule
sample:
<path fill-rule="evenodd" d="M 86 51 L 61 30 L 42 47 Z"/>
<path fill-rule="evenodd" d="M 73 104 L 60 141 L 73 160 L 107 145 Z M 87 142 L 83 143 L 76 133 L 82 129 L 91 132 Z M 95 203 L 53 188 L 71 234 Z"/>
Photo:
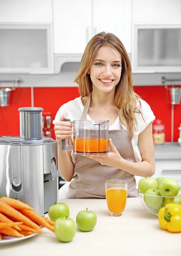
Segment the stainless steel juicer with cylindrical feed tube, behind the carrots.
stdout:
<path fill-rule="evenodd" d="M 44 215 L 58 197 L 57 141 L 43 137 L 43 108 L 19 108 L 20 137 L 0 137 L 0 197 Z"/>

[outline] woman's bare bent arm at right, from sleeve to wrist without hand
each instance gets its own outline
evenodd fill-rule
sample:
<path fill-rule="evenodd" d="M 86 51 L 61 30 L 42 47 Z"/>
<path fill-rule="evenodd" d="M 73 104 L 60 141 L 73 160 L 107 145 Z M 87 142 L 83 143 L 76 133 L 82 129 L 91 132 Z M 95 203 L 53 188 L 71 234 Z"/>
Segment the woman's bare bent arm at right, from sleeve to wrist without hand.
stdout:
<path fill-rule="evenodd" d="M 139 163 L 131 163 L 122 158 L 119 169 L 129 172 L 132 175 L 150 177 L 155 173 L 155 155 L 152 138 L 152 123 L 150 123 L 147 128 L 145 128 L 144 131 L 139 134 L 138 144 L 142 161 Z"/>

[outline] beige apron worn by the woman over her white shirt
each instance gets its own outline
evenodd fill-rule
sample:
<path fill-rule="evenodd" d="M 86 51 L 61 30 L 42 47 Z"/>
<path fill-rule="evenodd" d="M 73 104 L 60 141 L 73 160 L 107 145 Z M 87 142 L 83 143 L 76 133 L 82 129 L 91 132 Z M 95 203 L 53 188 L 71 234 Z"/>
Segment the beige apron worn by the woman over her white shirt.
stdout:
<path fill-rule="evenodd" d="M 89 110 L 90 97 L 84 107 L 81 120 L 86 119 Z M 121 121 L 120 121 L 121 123 Z M 121 124 L 121 130 L 109 131 L 109 137 L 125 160 L 135 162 L 129 131 Z M 102 166 L 98 161 L 82 155 L 76 155 L 75 177 L 69 184 L 66 199 L 73 198 L 105 198 L 106 180 L 126 180 L 128 182 L 128 197 L 137 197 L 135 176 L 111 166 Z"/>

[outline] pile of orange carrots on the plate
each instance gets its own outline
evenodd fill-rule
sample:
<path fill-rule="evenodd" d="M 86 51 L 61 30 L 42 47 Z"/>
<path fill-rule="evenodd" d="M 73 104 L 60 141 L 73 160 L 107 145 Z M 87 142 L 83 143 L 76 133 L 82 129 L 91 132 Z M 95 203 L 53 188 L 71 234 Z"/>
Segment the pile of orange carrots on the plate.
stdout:
<path fill-rule="evenodd" d="M 2 235 L 23 237 L 33 233 L 43 234 L 41 227 L 54 232 L 55 222 L 43 217 L 32 207 L 17 199 L 0 198 L 0 240 Z"/>

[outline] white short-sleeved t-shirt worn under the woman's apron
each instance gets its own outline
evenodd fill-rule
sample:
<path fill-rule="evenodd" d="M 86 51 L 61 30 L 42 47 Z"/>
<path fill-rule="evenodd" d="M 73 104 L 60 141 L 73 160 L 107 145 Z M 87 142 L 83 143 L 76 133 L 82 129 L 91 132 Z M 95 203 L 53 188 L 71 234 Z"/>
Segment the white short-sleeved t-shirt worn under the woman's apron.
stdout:
<path fill-rule="evenodd" d="M 155 120 L 155 116 L 150 106 L 148 105 L 148 103 L 142 99 L 140 99 L 140 102 L 141 102 L 141 113 L 144 119 L 141 116 L 141 113 L 135 113 L 135 119 L 136 119 L 137 125 L 135 125 L 136 130 L 132 137 L 132 146 L 133 146 L 136 162 L 141 162 L 141 154 L 138 147 L 138 135 L 142 131 L 144 131 L 144 129 L 147 127 L 147 125 L 149 125 L 150 122 L 153 122 Z M 67 116 L 69 116 L 70 120 L 80 120 L 82 116 L 83 108 L 84 106 L 81 100 L 81 96 L 63 104 L 57 111 L 55 119 L 53 120 L 53 124 L 59 121 L 60 117 L 63 116 L 63 114 L 65 113 L 67 114 Z M 86 119 L 90 121 L 92 120 L 88 114 L 86 116 Z M 119 130 L 119 129 L 121 129 L 121 125 L 119 122 L 119 117 L 117 117 L 115 122 L 109 127 L 109 130 Z M 72 161 L 75 164 L 76 155 L 73 154 L 73 151 L 71 155 L 72 155 Z"/>

